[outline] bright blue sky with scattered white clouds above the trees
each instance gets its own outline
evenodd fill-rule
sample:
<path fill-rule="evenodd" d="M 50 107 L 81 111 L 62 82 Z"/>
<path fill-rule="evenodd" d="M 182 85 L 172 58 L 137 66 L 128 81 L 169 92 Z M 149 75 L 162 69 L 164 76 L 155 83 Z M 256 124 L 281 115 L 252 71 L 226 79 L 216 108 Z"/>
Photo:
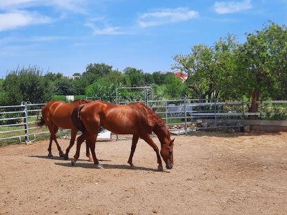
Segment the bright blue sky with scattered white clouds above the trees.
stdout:
<path fill-rule="evenodd" d="M 170 71 L 175 54 L 213 45 L 268 20 L 286 25 L 287 0 L 0 0 L 0 78 L 17 67 L 71 75 L 88 63 Z"/>

